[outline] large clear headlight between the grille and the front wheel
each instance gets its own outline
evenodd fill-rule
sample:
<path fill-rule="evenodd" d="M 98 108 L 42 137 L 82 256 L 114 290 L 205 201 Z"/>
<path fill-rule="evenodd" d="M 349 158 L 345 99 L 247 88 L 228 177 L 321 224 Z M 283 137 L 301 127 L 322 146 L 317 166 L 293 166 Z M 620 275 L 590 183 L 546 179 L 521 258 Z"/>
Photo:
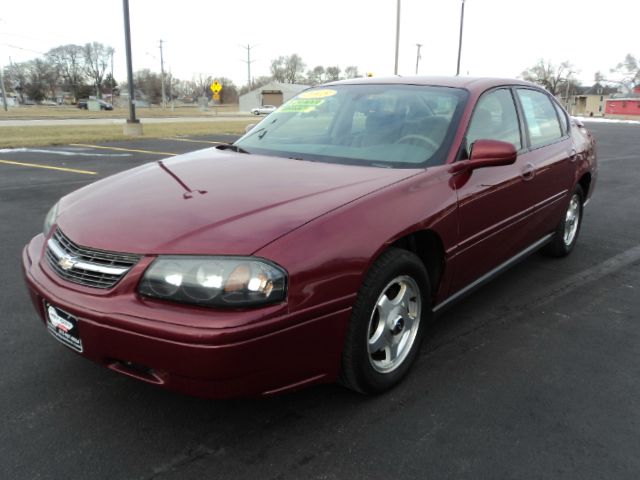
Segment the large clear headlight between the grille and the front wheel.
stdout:
<path fill-rule="evenodd" d="M 161 256 L 145 272 L 138 293 L 210 307 L 281 302 L 287 273 L 254 257 Z"/>

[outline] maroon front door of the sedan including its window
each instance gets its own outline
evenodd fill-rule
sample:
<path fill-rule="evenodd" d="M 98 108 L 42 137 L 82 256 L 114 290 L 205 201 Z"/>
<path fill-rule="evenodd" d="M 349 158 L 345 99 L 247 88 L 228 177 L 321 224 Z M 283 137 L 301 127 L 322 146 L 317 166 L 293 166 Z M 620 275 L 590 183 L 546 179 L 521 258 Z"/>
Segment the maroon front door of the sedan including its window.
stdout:
<path fill-rule="evenodd" d="M 482 95 L 466 135 L 471 152 L 480 139 L 513 143 L 518 158 L 513 165 L 476 169 L 452 178 L 458 195 L 459 234 L 450 293 L 480 278 L 534 241 L 529 225 L 534 201 L 529 180 L 522 128 L 511 88 Z"/>

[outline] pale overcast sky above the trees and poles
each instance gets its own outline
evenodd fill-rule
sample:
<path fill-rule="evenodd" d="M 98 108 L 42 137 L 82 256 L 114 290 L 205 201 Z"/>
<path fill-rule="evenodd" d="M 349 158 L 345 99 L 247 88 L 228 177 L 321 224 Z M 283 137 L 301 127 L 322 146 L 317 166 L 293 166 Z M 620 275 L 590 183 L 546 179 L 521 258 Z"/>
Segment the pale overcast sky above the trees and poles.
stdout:
<path fill-rule="evenodd" d="M 453 75 L 461 0 L 402 0 L 399 73 L 413 75 L 416 43 L 421 75 Z M 181 79 L 199 73 L 246 83 L 270 61 L 299 54 L 311 69 L 356 65 L 361 73 L 393 73 L 396 0 L 321 2 L 130 0 L 134 70 L 165 68 Z M 640 2 L 607 0 L 466 0 L 461 73 L 519 76 L 538 59 L 569 60 L 583 83 L 627 53 L 640 55 Z M 98 41 L 115 48 L 115 77 L 126 76 L 120 0 L 3 1 L 0 63 L 29 60 L 52 47 Z"/>

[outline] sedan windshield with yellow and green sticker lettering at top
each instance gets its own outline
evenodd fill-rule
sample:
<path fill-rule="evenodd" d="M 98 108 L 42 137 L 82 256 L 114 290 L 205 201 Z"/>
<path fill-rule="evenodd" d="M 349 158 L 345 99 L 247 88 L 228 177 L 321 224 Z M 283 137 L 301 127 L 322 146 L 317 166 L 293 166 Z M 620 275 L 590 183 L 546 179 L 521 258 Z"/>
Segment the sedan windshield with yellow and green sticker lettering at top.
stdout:
<path fill-rule="evenodd" d="M 234 145 L 297 160 L 415 168 L 444 163 L 467 92 L 418 85 L 309 89 Z"/>

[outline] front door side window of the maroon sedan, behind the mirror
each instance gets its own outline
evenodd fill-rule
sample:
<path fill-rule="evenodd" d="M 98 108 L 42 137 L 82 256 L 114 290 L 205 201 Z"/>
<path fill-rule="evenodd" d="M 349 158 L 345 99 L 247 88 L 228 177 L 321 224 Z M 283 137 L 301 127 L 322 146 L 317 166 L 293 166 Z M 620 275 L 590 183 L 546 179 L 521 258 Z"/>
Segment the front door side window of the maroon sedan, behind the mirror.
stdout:
<path fill-rule="evenodd" d="M 518 114 L 511 91 L 506 88 L 485 93 L 473 112 L 467 130 L 467 145 L 476 140 L 501 140 L 522 148 Z"/>

